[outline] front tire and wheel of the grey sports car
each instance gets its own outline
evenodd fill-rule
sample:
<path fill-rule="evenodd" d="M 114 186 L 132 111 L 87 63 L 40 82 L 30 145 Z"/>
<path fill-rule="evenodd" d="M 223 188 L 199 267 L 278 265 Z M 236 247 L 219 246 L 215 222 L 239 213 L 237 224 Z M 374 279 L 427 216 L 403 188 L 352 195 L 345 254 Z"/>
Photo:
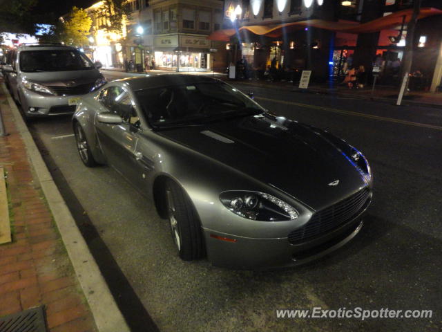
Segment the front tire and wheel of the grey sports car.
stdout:
<path fill-rule="evenodd" d="M 184 261 L 204 257 L 204 239 L 195 208 L 185 192 L 173 181 L 166 183 L 166 206 L 178 255 Z"/>

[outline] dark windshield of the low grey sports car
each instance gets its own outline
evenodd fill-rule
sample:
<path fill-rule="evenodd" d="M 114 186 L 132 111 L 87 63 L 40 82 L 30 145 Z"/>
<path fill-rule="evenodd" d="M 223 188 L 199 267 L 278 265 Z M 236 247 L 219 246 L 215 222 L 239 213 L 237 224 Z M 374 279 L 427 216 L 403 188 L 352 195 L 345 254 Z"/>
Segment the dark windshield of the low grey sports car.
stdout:
<path fill-rule="evenodd" d="M 154 128 L 202 124 L 265 111 L 238 89 L 222 82 L 143 89 L 135 91 L 135 95 Z"/>

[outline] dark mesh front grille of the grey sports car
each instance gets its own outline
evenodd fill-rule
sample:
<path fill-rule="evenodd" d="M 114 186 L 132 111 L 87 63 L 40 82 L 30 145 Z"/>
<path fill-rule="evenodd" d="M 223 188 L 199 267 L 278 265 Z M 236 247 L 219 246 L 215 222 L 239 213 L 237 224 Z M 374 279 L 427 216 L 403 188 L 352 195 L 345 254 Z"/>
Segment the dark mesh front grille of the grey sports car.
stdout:
<path fill-rule="evenodd" d="M 369 190 L 365 187 L 347 199 L 316 212 L 305 226 L 289 234 L 289 242 L 291 244 L 305 242 L 352 220 L 354 216 L 367 208 L 369 194 Z"/>

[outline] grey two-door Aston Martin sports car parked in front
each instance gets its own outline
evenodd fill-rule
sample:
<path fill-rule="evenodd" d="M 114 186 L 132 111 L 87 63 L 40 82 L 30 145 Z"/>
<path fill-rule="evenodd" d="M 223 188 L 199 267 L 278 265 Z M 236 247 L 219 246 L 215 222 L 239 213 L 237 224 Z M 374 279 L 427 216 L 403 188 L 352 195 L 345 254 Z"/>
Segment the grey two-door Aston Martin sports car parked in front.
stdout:
<path fill-rule="evenodd" d="M 169 219 L 180 257 L 296 266 L 355 237 L 372 199 L 356 148 L 196 75 L 117 80 L 73 116 L 88 167 L 115 167 Z"/>

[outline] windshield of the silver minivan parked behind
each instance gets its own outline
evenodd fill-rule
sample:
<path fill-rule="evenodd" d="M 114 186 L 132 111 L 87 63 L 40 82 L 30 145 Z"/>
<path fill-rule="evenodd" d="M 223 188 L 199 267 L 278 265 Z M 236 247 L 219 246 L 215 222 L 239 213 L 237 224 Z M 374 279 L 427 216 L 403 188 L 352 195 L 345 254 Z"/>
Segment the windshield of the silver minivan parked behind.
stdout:
<path fill-rule="evenodd" d="M 92 69 L 92 62 L 77 50 L 23 50 L 20 52 L 20 70 L 26 73 L 39 71 L 83 71 Z"/>

